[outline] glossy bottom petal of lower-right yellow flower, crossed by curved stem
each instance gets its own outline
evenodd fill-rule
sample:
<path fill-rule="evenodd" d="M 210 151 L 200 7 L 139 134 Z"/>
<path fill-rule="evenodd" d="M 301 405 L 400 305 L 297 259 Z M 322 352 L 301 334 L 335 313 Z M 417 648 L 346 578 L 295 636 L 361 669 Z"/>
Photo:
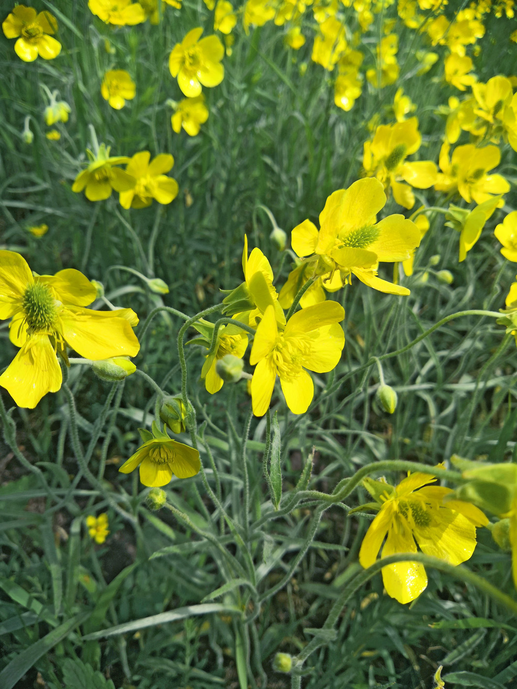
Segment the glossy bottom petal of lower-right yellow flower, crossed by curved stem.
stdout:
<path fill-rule="evenodd" d="M 409 530 L 389 530 L 383 557 L 395 553 L 416 553 L 416 545 Z M 409 603 L 417 598 L 427 586 L 427 575 L 419 562 L 397 562 L 382 569 L 386 592 L 399 603 Z"/>

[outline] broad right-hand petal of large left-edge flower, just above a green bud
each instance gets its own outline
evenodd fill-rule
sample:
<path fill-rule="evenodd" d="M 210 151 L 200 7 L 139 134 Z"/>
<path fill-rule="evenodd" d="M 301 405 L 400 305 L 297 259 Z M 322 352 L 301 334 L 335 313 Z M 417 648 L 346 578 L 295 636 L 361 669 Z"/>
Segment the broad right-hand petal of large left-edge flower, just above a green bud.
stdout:
<path fill-rule="evenodd" d="M 101 311 L 70 307 L 59 313 L 59 330 L 67 344 L 88 359 L 136 356 L 140 345 L 128 320 L 101 316 Z"/>

